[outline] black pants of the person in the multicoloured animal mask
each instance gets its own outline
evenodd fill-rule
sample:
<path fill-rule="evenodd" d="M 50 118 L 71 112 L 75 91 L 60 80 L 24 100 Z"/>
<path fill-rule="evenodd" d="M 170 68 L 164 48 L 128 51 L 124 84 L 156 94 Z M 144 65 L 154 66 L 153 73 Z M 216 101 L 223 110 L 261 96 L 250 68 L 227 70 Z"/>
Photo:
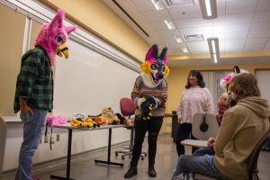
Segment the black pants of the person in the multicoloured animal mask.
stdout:
<path fill-rule="evenodd" d="M 150 120 L 139 119 L 135 117 L 134 129 L 135 140 L 132 150 L 132 159 L 130 166 L 137 166 L 141 153 L 142 143 L 146 132 L 148 131 L 148 166 L 154 166 L 157 154 L 157 136 L 161 129 L 163 116 L 151 117 Z"/>

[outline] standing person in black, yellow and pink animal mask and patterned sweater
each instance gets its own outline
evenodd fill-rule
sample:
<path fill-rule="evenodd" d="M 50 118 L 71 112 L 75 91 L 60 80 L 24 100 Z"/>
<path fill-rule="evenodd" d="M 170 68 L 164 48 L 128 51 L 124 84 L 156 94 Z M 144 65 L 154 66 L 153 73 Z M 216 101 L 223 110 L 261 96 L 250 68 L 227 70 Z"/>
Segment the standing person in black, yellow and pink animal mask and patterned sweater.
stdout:
<path fill-rule="evenodd" d="M 168 76 L 166 66 L 166 48 L 158 57 L 158 48 L 154 44 L 141 64 L 141 74 L 136 79 L 131 93 L 131 99 L 136 104 L 135 140 L 132 150 L 130 169 L 124 175 L 130 178 L 137 175 L 137 164 L 141 153 L 142 143 L 148 131 L 148 175 L 156 177 L 155 157 L 157 153 L 157 136 L 164 118 L 167 99 L 167 84 L 164 77 Z"/>

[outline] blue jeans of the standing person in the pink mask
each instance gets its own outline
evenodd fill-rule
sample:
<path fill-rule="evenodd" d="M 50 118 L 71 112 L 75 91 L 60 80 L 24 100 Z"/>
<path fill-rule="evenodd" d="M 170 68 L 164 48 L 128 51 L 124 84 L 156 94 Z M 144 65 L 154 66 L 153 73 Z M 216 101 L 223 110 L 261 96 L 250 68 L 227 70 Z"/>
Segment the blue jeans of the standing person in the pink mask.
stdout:
<path fill-rule="evenodd" d="M 32 109 L 33 114 L 21 112 L 23 121 L 23 143 L 19 155 L 19 166 L 16 180 L 32 180 L 32 157 L 40 144 L 40 136 L 47 111 Z"/>

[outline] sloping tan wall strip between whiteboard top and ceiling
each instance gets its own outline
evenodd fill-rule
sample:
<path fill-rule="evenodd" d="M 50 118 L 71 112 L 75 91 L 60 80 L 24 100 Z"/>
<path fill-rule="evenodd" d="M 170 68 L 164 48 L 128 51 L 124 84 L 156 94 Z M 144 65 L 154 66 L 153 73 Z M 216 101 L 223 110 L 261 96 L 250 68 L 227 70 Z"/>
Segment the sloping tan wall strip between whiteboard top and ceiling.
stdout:
<path fill-rule="evenodd" d="M 86 30 L 109 42 L 118 49 L 124 50 L 131 57 L 144 61 L 149 48 L 147 42 L 122 22 L 101 0 L 41 0 L 53 9 L 63 8 L 67 17 Z"/>

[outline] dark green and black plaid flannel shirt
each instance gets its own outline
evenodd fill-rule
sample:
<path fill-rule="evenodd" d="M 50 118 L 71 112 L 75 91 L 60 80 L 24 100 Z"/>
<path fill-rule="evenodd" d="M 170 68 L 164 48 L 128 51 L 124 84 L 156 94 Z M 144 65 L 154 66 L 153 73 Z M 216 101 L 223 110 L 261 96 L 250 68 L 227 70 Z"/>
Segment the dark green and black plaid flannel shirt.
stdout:
<path fill-rule="evenodd" d="M 53 81 L 50 59 L 45 49 L 36 46 L 22 58 L 17 76 L 14 112 L 20 111 L 19 97 L 31 108 L 50 111 L 52 109 Z"/>

